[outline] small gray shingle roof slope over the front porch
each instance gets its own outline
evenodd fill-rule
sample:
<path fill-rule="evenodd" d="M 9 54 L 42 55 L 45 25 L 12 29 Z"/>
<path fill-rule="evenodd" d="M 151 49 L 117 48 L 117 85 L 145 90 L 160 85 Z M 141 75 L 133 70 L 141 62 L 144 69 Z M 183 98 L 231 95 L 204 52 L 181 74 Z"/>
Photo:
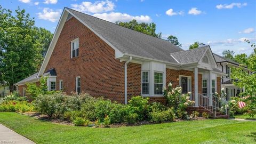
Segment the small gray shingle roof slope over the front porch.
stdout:
<path fill-rule="evenodd" d="M 208 47 L 209 45 L 205 45 L 192 50 L 174 52 L 171 55 L 181 64 L 199 62 Z"/>

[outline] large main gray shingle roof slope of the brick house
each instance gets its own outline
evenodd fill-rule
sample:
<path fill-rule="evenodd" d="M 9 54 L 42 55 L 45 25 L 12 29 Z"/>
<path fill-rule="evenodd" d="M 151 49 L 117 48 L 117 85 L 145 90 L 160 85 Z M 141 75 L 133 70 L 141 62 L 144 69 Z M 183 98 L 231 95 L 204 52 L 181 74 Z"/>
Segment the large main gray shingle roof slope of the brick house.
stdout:
<path fill-rule="evenodd" d="M 67 8 L 67 10 L 85 22 L 122 53 L 177 63 L 170 57 L 170 53 L 183 51 L 180 47 L 164 39 L 149 36 L 72 9 Z"/>

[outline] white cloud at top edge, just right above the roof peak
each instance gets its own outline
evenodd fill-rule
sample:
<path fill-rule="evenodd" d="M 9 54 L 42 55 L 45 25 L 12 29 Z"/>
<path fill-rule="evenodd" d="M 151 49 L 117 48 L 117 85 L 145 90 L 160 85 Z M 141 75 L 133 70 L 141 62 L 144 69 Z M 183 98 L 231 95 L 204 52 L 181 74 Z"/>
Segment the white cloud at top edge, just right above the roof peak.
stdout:
<path fill-rule="evenodd" d="M 71 4 L 71 7 L 77 11 L 84 13 L 101 13 L 113 11 L 115 4 L 111 1 L 97 1 L 94 3 L 91 2 L 82 2 L 81 4 Z"/>

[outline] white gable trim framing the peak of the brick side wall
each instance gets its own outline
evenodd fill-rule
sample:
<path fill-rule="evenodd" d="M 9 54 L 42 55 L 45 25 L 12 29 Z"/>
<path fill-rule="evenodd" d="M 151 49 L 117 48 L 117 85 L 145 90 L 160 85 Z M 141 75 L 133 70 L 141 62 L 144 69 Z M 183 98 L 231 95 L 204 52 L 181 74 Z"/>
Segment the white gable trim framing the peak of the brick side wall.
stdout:
<path fill-rule="evenodd" d="M 114 45 L 112 45 L 111 43 L 109 43 L 105 38 L 103 38 L 101 35 L 99 35 L 96 31 L 94 31 L 91 27 L 89 27 L 84 21 L 82 21 L 81 19 L 79 19 L 75 14 L 73 14 L 72 12 L 70 12 L 66 7 L 63 10 L 60 20 L 58 22 L 57 28 L 55 29 L 51 44 L 49 46 L 49 49 L 47 50 L 47 53 L 45 55 L 44 61 L 42 63 L 42 66 L 39 70 L 39 73 L 37 75 L 37 77 L 40 77 L 43 75 L 45 68 L 51 58 L 52 52 L 54 50 L 54 47 L 59 39 L 60 33 L 62 31 L 62 28 L 66 22 L 66 19 L 68 17 L 68 14 L 73 15 L 73 17 L 75 17 L 79 22 L 83 23 L 83 25 L 85 25 L 87 28 L 89 28 L 91 31 L 93 31 L 93 33 L 95 35 L 97 35 L 98 37 L 100 37 L 104 42 L 106 42 L 110 47 L 112 47 L 115 50 L 115 57 L 116 58 L 120 58 L 123 57 L 123 53 L 121 51 L 119 51 L 118 49 L 116 49 L 116 47 Z"/>

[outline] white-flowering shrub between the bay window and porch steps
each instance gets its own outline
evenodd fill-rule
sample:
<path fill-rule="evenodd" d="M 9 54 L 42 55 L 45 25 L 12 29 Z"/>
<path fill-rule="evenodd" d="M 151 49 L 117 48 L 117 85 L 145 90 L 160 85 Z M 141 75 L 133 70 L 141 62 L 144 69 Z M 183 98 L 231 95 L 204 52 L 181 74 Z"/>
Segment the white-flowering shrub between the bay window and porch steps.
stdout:
<path fill-rule="evenodd" d="M 167 106 L 173 107 L 179 118 L 189 119 L 186 108 L 194 105 L 195 103 L 195 101 L 190 100 L 189 95 L 191 92 L 181 94 L 181 87 L 172 88 L 172 83 L 169 83 L 167 88 L 163 87 L 163 94 L 166 98 Z"/>

